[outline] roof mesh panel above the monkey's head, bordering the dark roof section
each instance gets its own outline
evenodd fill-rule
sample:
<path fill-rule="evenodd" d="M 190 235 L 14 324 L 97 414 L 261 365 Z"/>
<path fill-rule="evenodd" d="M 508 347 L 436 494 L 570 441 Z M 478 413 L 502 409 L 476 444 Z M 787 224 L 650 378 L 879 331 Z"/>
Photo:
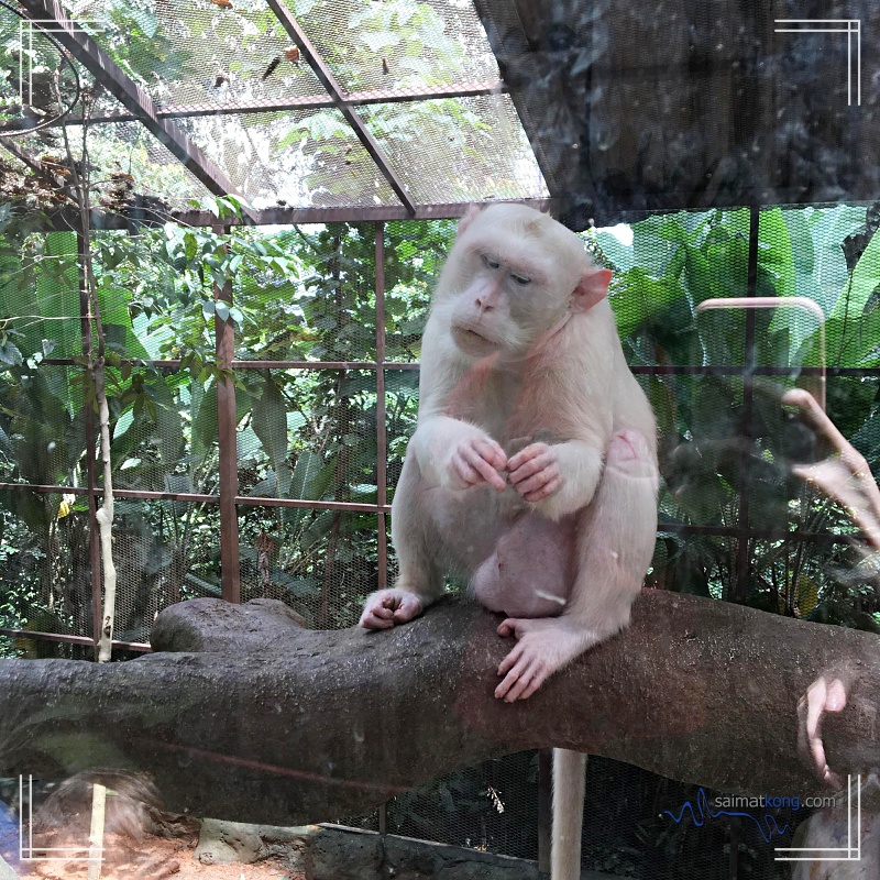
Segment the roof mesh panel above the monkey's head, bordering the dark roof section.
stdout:
<path fill-rule="evenodd" d="M 361 113 L 417 202 L 547 196 L 508 95 L 374 105 Z"/>

